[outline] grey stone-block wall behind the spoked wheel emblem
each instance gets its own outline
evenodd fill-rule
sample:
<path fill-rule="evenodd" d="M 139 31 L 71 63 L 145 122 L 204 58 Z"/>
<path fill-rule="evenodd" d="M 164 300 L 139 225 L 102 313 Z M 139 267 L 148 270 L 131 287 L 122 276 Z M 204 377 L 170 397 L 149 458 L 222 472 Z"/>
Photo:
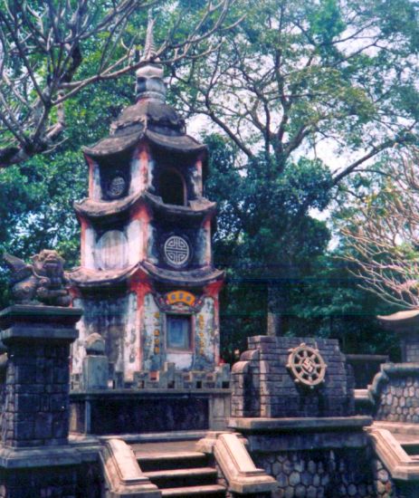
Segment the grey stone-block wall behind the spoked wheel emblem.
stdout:
<path fill-rule="evenodd" d="M 325 381 L 309 388 L 287 369 L 290 349 L 319 350 Z M 353 376 L 338 340 L 256 336 L 233 366 L 232 417 L 343 417 L 354 413 Z"/>

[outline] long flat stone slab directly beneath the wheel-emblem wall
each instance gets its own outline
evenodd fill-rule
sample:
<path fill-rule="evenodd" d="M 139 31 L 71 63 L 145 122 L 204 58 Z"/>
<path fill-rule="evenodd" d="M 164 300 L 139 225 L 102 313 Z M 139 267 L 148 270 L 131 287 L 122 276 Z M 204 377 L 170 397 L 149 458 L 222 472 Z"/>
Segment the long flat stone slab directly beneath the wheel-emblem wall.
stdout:
<path fill-rule="evenodd" d="M 290 417 L 290 418 L 230 418 L 228 427 L 240 432 L 319 432 L 333 430 L 360 430 L 371 426 L 373 419 L 355 417 Z"/>

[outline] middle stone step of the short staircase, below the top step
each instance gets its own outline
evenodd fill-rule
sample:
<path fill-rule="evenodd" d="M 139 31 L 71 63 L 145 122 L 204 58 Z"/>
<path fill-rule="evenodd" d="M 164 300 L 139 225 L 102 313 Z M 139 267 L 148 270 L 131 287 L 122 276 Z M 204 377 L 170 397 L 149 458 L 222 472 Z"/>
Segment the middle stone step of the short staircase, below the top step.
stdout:
<path fill-rule="evenodd" d="M 159 470 L 144 473 L 159 489 L 216 484 L 217 471 L 213 467 Z"/>

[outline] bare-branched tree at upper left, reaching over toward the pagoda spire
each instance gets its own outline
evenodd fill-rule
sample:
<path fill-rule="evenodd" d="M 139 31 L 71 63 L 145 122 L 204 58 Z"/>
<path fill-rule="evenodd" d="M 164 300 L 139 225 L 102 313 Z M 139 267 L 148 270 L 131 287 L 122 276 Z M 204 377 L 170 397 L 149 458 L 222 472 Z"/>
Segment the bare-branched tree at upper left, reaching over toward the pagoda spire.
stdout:
<path fill-rule="evenodd" d="M 212 38 L 228 29 L 233 1 L 6 0 L 0 7 L 0 167 L 56 148 L 66 101 L 138 68 L 147 9 L 155 7 L 165 21 L 170 13 L 156 57 L 175 63 L 214 49 Z M 92 51 L 99 53 L 95 60 Z"/>

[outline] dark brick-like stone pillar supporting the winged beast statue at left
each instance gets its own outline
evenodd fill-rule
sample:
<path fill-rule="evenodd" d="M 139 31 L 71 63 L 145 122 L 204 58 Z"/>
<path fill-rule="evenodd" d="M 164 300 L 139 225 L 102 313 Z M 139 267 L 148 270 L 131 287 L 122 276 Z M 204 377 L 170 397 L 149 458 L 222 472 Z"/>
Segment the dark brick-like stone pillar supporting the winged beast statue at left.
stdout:
<path fill-rule="evenodd" d="M 0 313 L 8 350 L 4 446 L 65 445 L 69 434 L 70 344 L 81 310 L 15 305 Z"/>

